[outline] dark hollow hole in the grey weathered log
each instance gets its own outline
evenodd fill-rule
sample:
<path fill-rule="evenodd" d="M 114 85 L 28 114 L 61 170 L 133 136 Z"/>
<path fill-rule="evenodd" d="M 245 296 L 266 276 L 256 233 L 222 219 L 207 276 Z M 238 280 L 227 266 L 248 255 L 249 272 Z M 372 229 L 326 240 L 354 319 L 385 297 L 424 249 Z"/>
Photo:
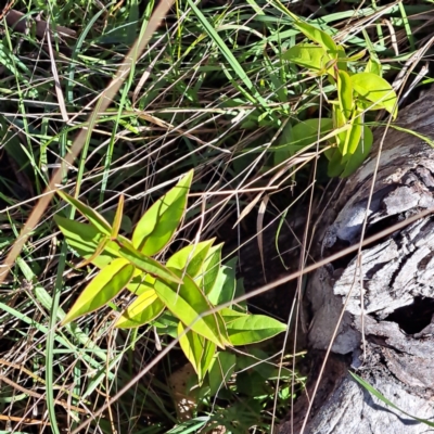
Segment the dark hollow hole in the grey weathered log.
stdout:
<path fill-rule="evenodd" d="M 414 297 L 414 303 L 391 314 L 385 321 L 396 322 L 407 334 L 419 333 L 431 323 L 434 314 L 434 298 Z"/>

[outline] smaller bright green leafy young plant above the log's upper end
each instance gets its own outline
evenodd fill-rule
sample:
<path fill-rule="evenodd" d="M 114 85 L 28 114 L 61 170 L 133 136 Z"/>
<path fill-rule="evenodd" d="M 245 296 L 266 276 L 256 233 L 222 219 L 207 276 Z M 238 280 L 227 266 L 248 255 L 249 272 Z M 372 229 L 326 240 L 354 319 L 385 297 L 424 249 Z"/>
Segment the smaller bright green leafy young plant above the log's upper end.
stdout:
<path fill-rule="evenodd" d="M 315 77 L 326 76 L 336 90 L 331 118 L 307 119 L 295 126 L 288 125 L 282 131 L 286 146 L 279 146 L 275 164 L 280 164 L 295 152 L 316 143 L 318 138 L 332 145 L 324 151 L 329 159 L 330 177 L 347 177 L 368 156 L 372 146 L 371 129 L 365 125 L 368 111 L 386 110 L 395 118 L 397 97 L 392 86 L 382 78 L 380 63 L 371 56 L 362 72 L 356 62 L 366 51 L 348 56 L 342 44 L 336 44 L 327 33 L 302 22 L 285 9 L 294 20 L 294 26 L 311 42 L 291 47 L 282 58 L 284 61 L 305 67 Z M 349 68 L 352 67 L 352 69 Z"/>

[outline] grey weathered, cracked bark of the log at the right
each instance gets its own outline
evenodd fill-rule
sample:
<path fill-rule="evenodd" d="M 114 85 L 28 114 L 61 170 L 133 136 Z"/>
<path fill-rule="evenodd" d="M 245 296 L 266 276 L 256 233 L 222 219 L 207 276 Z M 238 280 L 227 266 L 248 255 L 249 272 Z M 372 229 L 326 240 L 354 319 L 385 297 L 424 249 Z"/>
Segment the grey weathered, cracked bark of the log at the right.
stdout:
<path fill-rule="evenodd" d="M 433 99 L 431 90 L 404 110 L 399 127 L 433 139 Z M 328 212 L 317 238 L 317 258 L 359 242 L 382 135 L 383 130 L 376 131 L 376 151 L 346 181 Z M 434 208 L 434 150 L 392 128 L 381 152 L 367 234 L 427 208 Z M 312 311 L 308 342 L 317 374 L 343 309 L 344 315 L 304 433 L 434 432 L 385 406 L 348 374 L 354 369 L 403 410 L 434 421 L 434 217 L 363 248 L 361 267 L 353 255 L 318 269 L 309 277 L 306 295 Z M 310 378 L 308 396 L 318 375 Z M 299 433 L 307 407 L 308 399 L 302 396 L 293 420 L 280 425 L 280 434 Z"/>

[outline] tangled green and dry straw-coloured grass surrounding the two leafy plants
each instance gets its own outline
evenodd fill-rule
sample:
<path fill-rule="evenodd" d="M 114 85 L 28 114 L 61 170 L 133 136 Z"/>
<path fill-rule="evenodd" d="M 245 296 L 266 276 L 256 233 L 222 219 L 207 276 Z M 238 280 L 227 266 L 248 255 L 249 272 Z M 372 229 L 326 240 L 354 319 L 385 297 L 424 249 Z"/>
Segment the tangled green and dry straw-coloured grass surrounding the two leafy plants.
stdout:
<path fill-rule="evenodd" d="M 13 8 L 24 12 L 29 25 L 25 33 L 17 33 L 3 20 L 0 43 L 0 250 L 4 255 L 53 170 L 62 166 L 76 135 L 86 128 L 94 101 L 136 38 L 145 31 L 155 2 L 126 0 L 103 5 L 85 0 L 48 4 L 17 0 Z M 349 54 L 366 49 L 375 55 L 390 82 L 401 68 L 411 73 L 408 84 L 417 75 L 418 66 L 411 61 L 430 36 L 429 1 L 410 5 L 374 2 L 357 10 L 342 2 L 340 12 L 333 11 L 334 4 L 314 11 L 297 8 L 295 13 L 345 44 Z M 31 23 L 38 14 L 77 36 L 52 34 L 51 42 L 47 36 L 41 38 Z M 266 204 L 265 196 L 275 205 L 266 213 L 291 215 L 288 200 L 278 193 L 296 181 L 301 188 L 294 194 L 298 194 L 315 184 L 314 176 L 327 176 L 321 161 L 314 170 L 315 149 L 273 165 L 276 153 L 289 140 L 283 131 L 288 124 L 327 117 L 326 102 L 335 98 L 333 86 L 324 86 L 282 60 L 302 39 L 278 1 L 177 1 L 113 103 L 99 114 L 79 157 L 65 168 L 65 189 L 86 197 L 108 217 L 124 194 L 123 224 L 128 231 L 176 177 L 194 168 L 199 181 L 192 189 L 197 195 L 192 195 L 183 227 L 168 253 L 195 238 L 212 238 L 219 229 L 228 238 L 254 235 L 251 228 L 232 231 L 230 227 L 246 218 L 254 208 L 251 203 Z M 53 222 L 56 212 L 53 201 L 0 293 L 1 375 L 42 396 L 36 398 L 2 383 L 0 413 L 9 420 L 0 421 L 7 430 L 30 432 L 28 419 L 40 422 L 36 431 L 47 430 L 47 382 L 56 387 L 51 393 L 59 400 L 69 399 L 85 411 L 48 403 L 50 429 L 73 431 L 152 362 L 158 345 L 167 344 L 165 339 L 158 343 L 152 329 L 115 332 L 108 310 L 52 328 L 93 272 L 74 268 L 75 256 Z M 55 299 L 61 306 L 53 309 Z M 280 349 L 267 348 L 259 356 L 257 349 L 246 349 L 227 388 L 215 395 L 196 391 L 190 421 L 180 420 L 167 385 L 169 371 L 182 362 L 174 352 L 91 423 L 104 433 L 195 432 L 213 423 L 231 432 L 253 427 L 269 432 L 273 414 L 284 416 L 296 392 L 289 385 L 303 386 L 293 359 L 283 360 L 283 373 L 277 371 L 282 360 L 271 356 Z M 267 358 L 268 363 L 261 362 Z M 248 368 L 254 363 L 256 370 Z M 248 383 L 259 385 L 258 390 L 247 390 Z"/>

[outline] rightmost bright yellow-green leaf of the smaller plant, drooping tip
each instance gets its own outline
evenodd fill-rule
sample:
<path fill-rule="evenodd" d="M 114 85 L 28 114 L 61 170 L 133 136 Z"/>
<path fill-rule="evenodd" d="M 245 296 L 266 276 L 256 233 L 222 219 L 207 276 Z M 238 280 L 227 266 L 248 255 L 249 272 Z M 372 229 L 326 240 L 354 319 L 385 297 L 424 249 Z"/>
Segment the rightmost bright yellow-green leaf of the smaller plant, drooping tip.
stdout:
<path fill-rule="evenodd" d="M 392 86 L 373 73 L 359 73 L 350 76 L 354 90 L 361 97 L 373 102 L 370 110 L 385 108 L 396 118 L 397 97 Z"/>

